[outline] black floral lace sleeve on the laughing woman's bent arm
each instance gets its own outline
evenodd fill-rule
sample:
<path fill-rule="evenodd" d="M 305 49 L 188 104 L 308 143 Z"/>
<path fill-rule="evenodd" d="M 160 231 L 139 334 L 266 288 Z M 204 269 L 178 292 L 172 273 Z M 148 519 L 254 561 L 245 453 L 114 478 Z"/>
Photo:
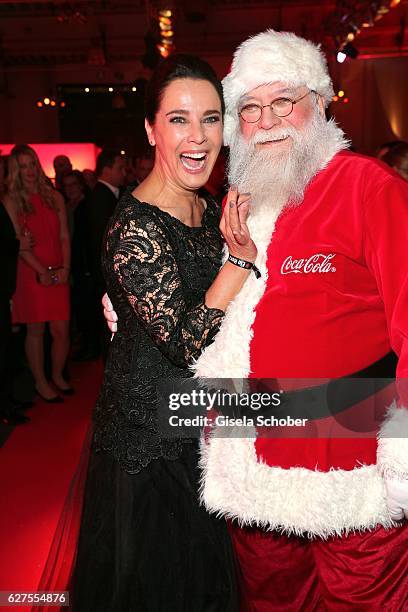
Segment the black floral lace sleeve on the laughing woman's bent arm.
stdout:
<path fill-rule="evenodd" d="M 137 317 L 173 363 L 186 367 L 211 343 L 224 312 L 203 302 L 187 307 L 175 252 L 155 220 L 141 216 L 120 229 L 113 269 Z"/>

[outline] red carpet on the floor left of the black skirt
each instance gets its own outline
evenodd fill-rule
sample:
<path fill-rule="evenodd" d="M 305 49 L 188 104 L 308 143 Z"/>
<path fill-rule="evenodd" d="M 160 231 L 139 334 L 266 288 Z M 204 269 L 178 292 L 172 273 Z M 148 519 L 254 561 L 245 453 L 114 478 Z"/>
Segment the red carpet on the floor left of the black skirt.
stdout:
<path fill-rule="evenodd" d="M 0 591 L 36 591 L 102 378 L 102 365 L 71 369 L 75 395 L 36 401 L 0 454 Z M 30 610 L 5 607 L 2 610 Z"/>

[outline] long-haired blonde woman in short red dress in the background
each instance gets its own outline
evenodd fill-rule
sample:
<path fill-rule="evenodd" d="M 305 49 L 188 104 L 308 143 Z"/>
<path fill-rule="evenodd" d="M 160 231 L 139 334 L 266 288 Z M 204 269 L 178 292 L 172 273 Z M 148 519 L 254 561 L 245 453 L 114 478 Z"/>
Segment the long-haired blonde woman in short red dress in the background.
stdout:
<path fill-rule="evenodd" d="M 68 354 L 70 239 L 63 197 L 52 188 L 35 151 L 17 145 L 9 157 L 5 206 L 17 237 L 31 234 L 34 247 L 20 251 L 13 322 L 27 324 L 25 348 L 37 394 L 46 402 L 62 398 L 44 372 L 44 330 L 52 336 L 52 381 L 57 391 L 72 389 L 63 376 Z"/>

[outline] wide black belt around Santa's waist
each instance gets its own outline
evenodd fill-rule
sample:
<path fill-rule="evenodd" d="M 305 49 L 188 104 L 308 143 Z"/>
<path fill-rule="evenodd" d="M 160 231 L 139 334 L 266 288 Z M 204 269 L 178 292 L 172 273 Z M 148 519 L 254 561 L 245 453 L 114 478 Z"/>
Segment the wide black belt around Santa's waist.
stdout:
<path fill-rule="evenodd" d="M 330 417 L 359 404 L 394 382 L 397 356 L 390 352 L 366 368 L 328 383 L 294 391 L 279 391 L 280 404 L 268 413 L 279 418 Z M 251 379 L 251 393 L 277 392 L 277 381 Z"/>

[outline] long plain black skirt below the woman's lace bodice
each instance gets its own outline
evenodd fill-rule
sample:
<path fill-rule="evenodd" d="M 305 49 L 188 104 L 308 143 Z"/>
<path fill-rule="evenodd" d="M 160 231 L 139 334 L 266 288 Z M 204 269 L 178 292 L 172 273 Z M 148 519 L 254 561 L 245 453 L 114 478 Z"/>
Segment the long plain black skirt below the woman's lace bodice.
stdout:
<path fill-rule="evenodd" d="M 225 521 L 198 502 L 198 452 L 128 474 L 92 453 L 70 585 L 74 612 L 237 612 Z"/>

